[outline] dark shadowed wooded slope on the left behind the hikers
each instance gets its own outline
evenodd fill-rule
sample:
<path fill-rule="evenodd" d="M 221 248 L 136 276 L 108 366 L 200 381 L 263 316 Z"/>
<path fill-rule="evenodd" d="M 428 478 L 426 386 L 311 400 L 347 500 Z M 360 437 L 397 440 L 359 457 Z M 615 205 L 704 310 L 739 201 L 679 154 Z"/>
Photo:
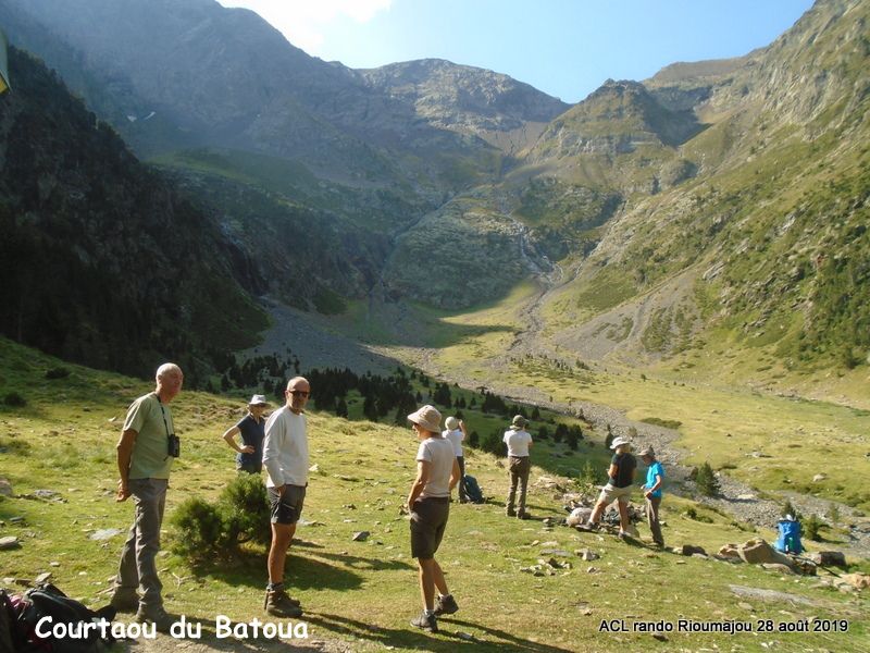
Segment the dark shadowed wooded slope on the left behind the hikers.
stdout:
<path fill-rule="evenodd" d="M 54 73 L 12 48 L 0 98 L 2 333 L 136 373 L 156 358 L 196 383 L 265 325 L 226 260 L 247 254 L 142 167 Z"/>

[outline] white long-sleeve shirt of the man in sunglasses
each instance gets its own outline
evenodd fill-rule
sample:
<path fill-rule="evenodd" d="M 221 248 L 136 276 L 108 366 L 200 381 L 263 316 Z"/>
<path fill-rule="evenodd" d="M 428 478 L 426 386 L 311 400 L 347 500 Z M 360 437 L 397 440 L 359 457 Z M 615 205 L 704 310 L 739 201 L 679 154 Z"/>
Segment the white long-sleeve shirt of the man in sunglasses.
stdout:
<path fill-rule="evenodd" d="M 308 483 L 308 436 L 306 416 L 287 406 L 275 410 L 265 422 L 263 466 L 269 472 L 266 486 Z"/>

